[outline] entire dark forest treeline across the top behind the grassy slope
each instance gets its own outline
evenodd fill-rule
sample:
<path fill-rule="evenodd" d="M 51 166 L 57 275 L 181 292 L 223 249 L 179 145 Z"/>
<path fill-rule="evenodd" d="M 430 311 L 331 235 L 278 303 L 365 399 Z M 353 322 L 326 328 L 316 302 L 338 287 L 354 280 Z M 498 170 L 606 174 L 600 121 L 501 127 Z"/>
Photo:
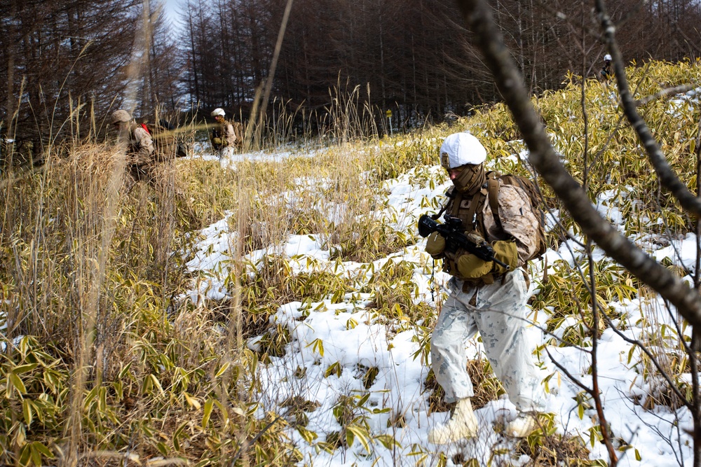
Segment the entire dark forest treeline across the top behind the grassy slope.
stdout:
<path fill-rule="evenodd" d="M 104 134 L 103 119 L 120 106 L 137 117 L 159 106 L 207 115 L 223 107 L 246 118 L 288 1 L 187 0 L 172 25 L 158 0 L 4 0 L 0 132 L 34 141 L 38 153 L 50 140 Z M 701 55 L 701 2 L 609 3 L 627 62 Z M 606 51 L 592 6 L 493 2 L 532 92 L 558 88 L 567 71 L 601 68 Z M 294 0 L 270 100 L 324 120 L 329 88 L 358 86 L 358 99 L 377 118 L 392 110 L 396 126 L 464 115 L 500 99 L 470 44 L 452 0 Z"/>

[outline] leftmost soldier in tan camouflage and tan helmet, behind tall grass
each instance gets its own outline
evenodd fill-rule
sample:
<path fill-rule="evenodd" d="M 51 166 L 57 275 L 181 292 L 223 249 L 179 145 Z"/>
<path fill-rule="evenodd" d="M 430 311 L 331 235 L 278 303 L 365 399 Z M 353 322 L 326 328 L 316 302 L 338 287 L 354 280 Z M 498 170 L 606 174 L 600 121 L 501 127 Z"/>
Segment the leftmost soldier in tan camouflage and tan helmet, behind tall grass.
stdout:
<path fill-rule="evenodd" d="M 123 109 L 114 111 L 110 121 L 118 132 L 118 140 L 126 146 L 127 165 L 132 179 L 150 182 L 155 162 L 154 140 L 151 134 Z"/>

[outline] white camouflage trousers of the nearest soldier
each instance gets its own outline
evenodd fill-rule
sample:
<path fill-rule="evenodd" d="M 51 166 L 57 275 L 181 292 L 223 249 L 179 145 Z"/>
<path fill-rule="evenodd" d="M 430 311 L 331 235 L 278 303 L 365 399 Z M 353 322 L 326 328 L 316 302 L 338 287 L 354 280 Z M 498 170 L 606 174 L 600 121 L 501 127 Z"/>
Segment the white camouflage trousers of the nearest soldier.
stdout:
<path fill-rule="evenodd" d="M 445 402 L 475 395 L 468 375 L 465 341 L 477 331 L 491 368 L 509 399 L 522 412 L 542 411 L 544 393 L 538 369 L 526 342 L 526 279 L 520 269 L 506 274 L 504 284 L 462 291 L 463 282 L 449 281 L 451 294 L 443 305 L 431 337 L 431 362 Z M 468 305 L 477 293 L 475 306 Z"/>

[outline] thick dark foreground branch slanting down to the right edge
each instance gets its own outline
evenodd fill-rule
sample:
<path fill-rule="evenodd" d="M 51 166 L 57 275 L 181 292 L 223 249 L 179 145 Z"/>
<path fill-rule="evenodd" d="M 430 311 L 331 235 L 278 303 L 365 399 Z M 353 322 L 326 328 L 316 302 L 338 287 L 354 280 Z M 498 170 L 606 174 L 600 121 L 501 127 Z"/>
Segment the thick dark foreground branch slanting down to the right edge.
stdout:
<path fill-rule="evenodd" d="M 701 298 L 698 293 L 601 218 L 583 188 L 560 163 L 486 1 L 457 0 L 457 3 L 465 25 L 475 33 L 484 62 L 494 75 L 496 85 L 523 135 L 533 167 L 552 187 L 585 234 L 608 256 L 672 302 L 693 326 L 701 325 Z"/>

